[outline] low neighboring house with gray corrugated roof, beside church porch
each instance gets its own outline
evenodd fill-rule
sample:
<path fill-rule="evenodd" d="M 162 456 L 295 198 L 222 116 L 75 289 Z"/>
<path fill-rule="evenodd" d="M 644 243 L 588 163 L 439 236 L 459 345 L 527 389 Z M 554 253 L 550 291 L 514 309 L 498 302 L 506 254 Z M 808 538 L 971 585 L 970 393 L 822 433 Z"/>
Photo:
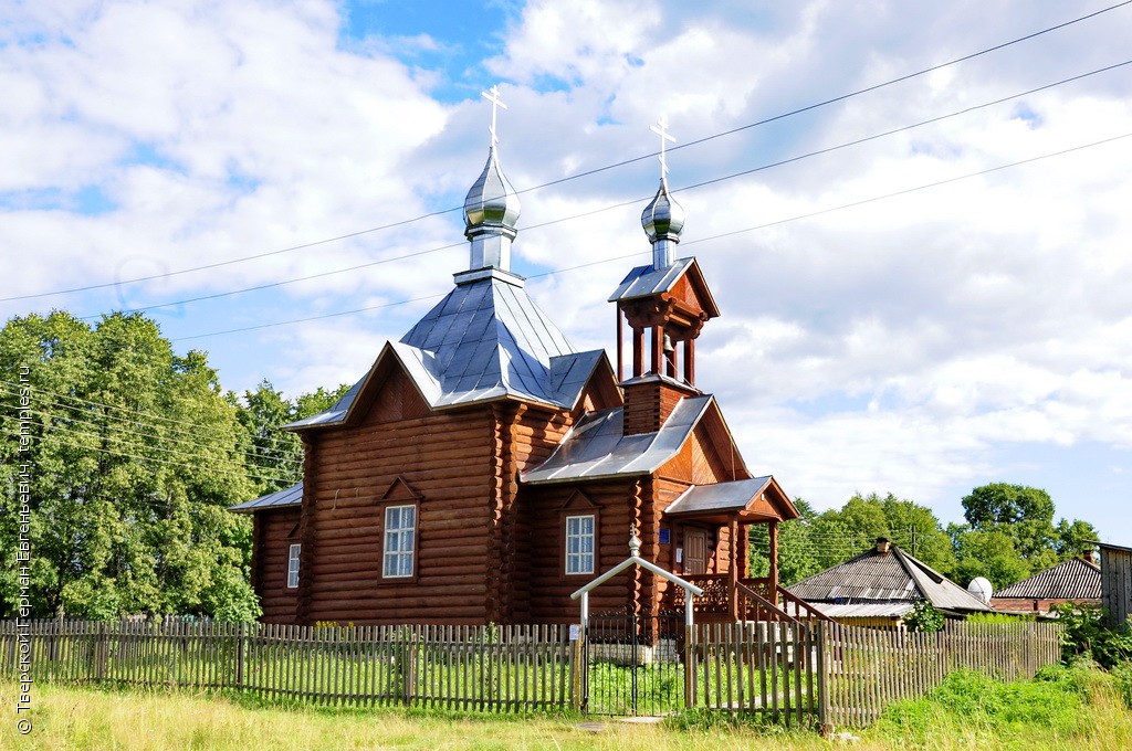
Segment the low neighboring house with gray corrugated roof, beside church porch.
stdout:
<path fill-rule="evenodd" d="M 990 612 L 978 597 L 884 537 L 860 555 L 788 589 L 830 619 L 850 625 L 898 628 L 921 599 L 949 618 Z"/>

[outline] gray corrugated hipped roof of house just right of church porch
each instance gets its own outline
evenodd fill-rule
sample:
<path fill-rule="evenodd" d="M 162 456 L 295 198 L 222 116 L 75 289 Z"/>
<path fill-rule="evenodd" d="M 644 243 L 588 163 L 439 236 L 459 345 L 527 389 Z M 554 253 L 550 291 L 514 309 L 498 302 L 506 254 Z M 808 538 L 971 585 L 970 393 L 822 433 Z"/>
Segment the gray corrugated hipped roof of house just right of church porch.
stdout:
<path fill-rule="evenodd" d="M 860 555 L 787 587 L 816 603 L 860 604 L 926 599 L 944 611 L 989 611 L 990 607 L 942 573 L 897 545 L 887 553 L 871 547 Z"/>

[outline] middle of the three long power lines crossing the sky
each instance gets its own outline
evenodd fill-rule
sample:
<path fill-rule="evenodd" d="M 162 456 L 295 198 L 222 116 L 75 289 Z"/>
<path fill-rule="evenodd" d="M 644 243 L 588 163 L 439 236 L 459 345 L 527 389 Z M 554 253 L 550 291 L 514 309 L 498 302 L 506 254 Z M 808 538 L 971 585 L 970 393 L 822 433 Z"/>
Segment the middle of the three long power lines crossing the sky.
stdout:
<path fill-rule="evenodd" d="M 1132 0 L 1130 0 L 1130 1 L 1132 1 Z M 873 140 L 877 140 L 877 139 L 881 139 L 881 138 L 886 138 L 889 136 L 894 136 L 897 133 L 906 132 L 906 131 L 912 130 L 915 128 L 921 128 L 924 126 L 928 126 L 928 124 L 932 124 L 932 123 L 941 122 L 941 121 L 947 120 L 950 118 L 957 118 L 957 116 L 960 116 L 960 115 L 963 115 L 963 114 L 969 114 L 971 112 L 976 112 L 978 110 L 983 110 L 983 109 L 986 109 L 986 107 L 995 106 L 997 104 L 1003 104 L 1004 102 L 1010 102 L 1012 100 L 1017 100 L 1017 98 L 1020 98 L 1022 96 L 1029 96 L 1030 94 L 1036 94 L 1038 92 L 1044 92 L 1044 90 L 1047 90 L 1047 89 L 1050 89 L 1050 88 L 1054 88 L 1054 87 L 1057 87 L 1057 86 L 1062 86 L 1062 85 L 1065 85 L 1065 84 L 1074 83 L 1074 81 L 1081 80 L 1083 78 L 1088 78 L 1090 76 L 1096 76 L 1096 75 L 1103 74 L 1103 72 L 1108 72 L 1110 70 L 1115 70 L 1117 68 L 1122 68 L 1122 67 L 1129 66 L 1129 64 L 1132 64 L 1132 60 L 1125 60 L 1123 62 L 1118 62 L 1118 63 L 1114 63 L 1114 64 L 1110 64 L 1110 66 L 1106 66 L 1104 68 L 1098 68 L 1096 70 L 1090 70 L 1088 72 L 1079 74 L 1079 75 L 1072 76 L 1070 78 L 1063 78 L 1063 79 L 1061 79 L 1058 81 L 1054 81 L 1052 84 L 1046 84 L 1044 86 L 1038 86 L 1038 87 L 1035 87 L 1035 88 L 1030 88 L 1030 89 L 1027 89 L 1024 92 L 1020 92 L 1018 94 L 1011 94 L 1009 96 L 1003 96 L 1003 97 L 1000 97 L 997 100 L 993 100 L 990 102 L 985 102 L 983 104 L 976 104 L 976 105 L 972 105 L 972 106 L 969 106 L 969 107 L 964 107 L 964 109 L 958 110 L 955 112 L 950 112 L 947 114 L 937 115 L 937 116 L 934 116 L 934 118 L 929 118 L 927 120 L 921 120 L 919 122 L 910 123 L 910 124 L 907 124 L 907 126 L 901 126 L 899 128 L 893 128 L 891 130 L 885 130 L 883 132 L 874 133 L 872 136 L 865 136 L 863 138 L 858 138 L 858 139 L 855 139 L 855 140 L 851 140 L 851 141 L 846 141 L 843 144 L 838 144 L 837 146 L 829 146 L 826 148 L 822 148 L 822 149 L 817 149 L 817 150 L 813 150 L 813 152 L 807 152 L 805 154 L 791 156 L 789 158 L 780 159 L 778 162 L 771 162 L 771 163 L 763 164 L 763 165 L 760 165 L 760 166 L 756 166 L 756 167 L 752 167 L 749 170 L 744 170 L 741 172 L 734 172 L 731 174 L 727 174 L 727 175 L 723 175 L 723 176 L 720 176 L 720 178 L 713 178 L 711 180 L 705 180 L 703 182 L 697 182 L 697 183 L 693 183 L 693 184 L 689 184 L 689 185 L 684 185 L 684 187 L 680 187 L 680 188 L 675 188 L 675 189 L 670 190 L 669 192 L 671 192 L 671 193 L 678 193 L 678 192 L 685 192 L 685 191 L 696 190 L 696 189 L 700 189 L 700 188 L 705 188 L 707 185 L 714 185 L 717 183 L 724 182 L 724 181 L 728 181 L 728 180 L 735 180 L 737 178 L 743 178 L 743 176 L 746 176 L 746 175 L 751 175 L 751 174 L 754 174 L 756 172 L 763 172 L 765 170 L 770 170 L 770 169 L 773 169 L 773 167 L 779 167 L 779 166 L 783 166 L 783 165 L 787 165 L 787 164 L 794 164 L 795 162 L 800 162 L 803 159 L 807 159 L 807 158 L 811 158 L 811 157 L 814 157 L 814 156 L 821 156 L 821 155 L 824 155 L 824 154 L 831 154 L 833 152 L 838 152 L 838 150 L 841 150 L 841 149 L 844 149 L 844 148 L 849 148 L 849 147 L 852 147 L 852 146 L 859 146 L 859 145 L 866 144 L 868 141 L 873 141 Z M 609 210 L 612 210 L 612 209 L 623 208 L 625 206 L 632 206 L 633 204 L 638 204 L 638 202 L 645 201 L 649 198 L 650 198 L 650 196 L 644 196 L 644 197 L 641 197 L 641 198 L 634 198 L 634 199 L 631 199 L 631 200 L 627 200 L 627 201 L 621 201 L 621 202 L 618 202 L 618 204 L 611 204 L 611 205 L 603 206 L 603 207 L 600 207 L 600 208 L 591 209 L 591 210 L 584 212 L 582 214 L 575 214 L 575 215 L 572 215 L 572 216 L 560 217 L 560 218 L 557 218 L 557 219 L 550 219 L 548 222 L 541 222 L 539 224 L 534 224 L 534 225 L 531 225 L 529 227 L 524 227 L 523 232 L 526 233 L 526 232 L 531 232 L 532 230 L 540 230 L 540 228 L 552 226 L 552 225 L 556 225 L 556 224 L 561 224 L 561 223 L 565 223 L 565 222 L 573 222 L 575 219 L 584 218 L 584 217 L 588 217 L 588 216 L 593 216 L 595 214 L 601 214 L 601 213 L 609 212 Z M 375 266 L 381 266 L 381 265 L 385 265 L 385 264 L 391 264 L 391 262 L 395 262 L 395 261 L 400 261 L 400 260 L 405 260 L 405 259 L 409 259 L 409 258 L 418 258 L 420 256 L 427 256 L 427 254 L 439 252 L 439 251 L 443 251 L 443 250 L 449 250 L 452 248 L 460 248 L 460 247 L 463 247 L 464 244 L 465 243 L 463 243 L 463 242 L 448 243 L 446 245 L 439 245 L 437 248 L 430 248 L 428 250 L 419 250 L 419 251 L 415 251 L 415 252 L 412 252 L 412 253 L 405 253 L 405 254 L 402 254 L 402 256 L 392 256 L 389 258 L 383 258 L 380 260 L 368 261 L 366 264 L 359 264 L 357 266 L 349 266 L 349 267 L 345 267 L 345 268 L 334 269 L 334 270 L 331 270 L 331 271 L 320 271 L 318 274 L 311 274 L 311 275 L 308 275 L 308 276 L 300 276 L 300 277 L 294 277 L 294 278 L 291 278 L 291 279 L 283 279 L 283 280 L 280 280 L 280 282 L 269 282 L 269 283 L 266 283 L 266 284 L 259 284 L 259 285 L 255 285 L 255 286 L 251 286 L 251 287 L 243 287 L 243 288 L 240 288 L 240 290 L 230 290 L 230 291 L 226 291 L 226 292 L 217 292 L 217 293 L 214 293 L 214 294 L 199 295 L 199 296 L 196 296 L 196 297 L 188 297 L 188 299 L 185 299 L 185 300 L 174 300 L 174 301 L 171 301 L 171 302 L 155 303 L 155 304 L 152 304 L 152 305 L 139 305 L 137 308 L 130 308 L 128 310 L 123 310 L 122 312 L 125 312 L 125 313 L 138 313 L 138 312 L 144 312 L 144 311 L 147 311 L 147 310 L 156 310 L 158 308 L 171 308 L 171 307 L 174 307 L 174 305 L 183 305 L 183 304 L 189 304 L 189 303 L 194 303 L 194 302 L 203 302 L 203 301 L 207 301 L 207 300 L 218 300 L 221 297 L 230 297 L 232 295 L 245 294 L 245 293 L 248 293 L 248 292 L 260 292 L 260 291 L 264 291 L 264 290 L 271 290 L 271 288 L 275 288 L 275 287 L 282 287 L 282 286 L 285 286 L 285 285 L 289 285 L 289 284 L 298 284 L 299 282 L 309 282 L 311 279 L 319 279 L 319 278 L 324 278 L 324 277 L 327 277 L 327 276 L 335 276 L 337 274 L 345 274 L 345 273 L 349 273 L 349 271 L 358 271 L 358 270 L 361 270 L 361 269 L 365 269 L 365 268 L 372 268 Z M 98 318 L 100 316 L 102 316 L 102 313 L 94 313 L 94 314 L 89 314 L 89 316 L 80 316 L 78 318 L 79 318 L 79 320 L 92 320 L 92 319 Z"/>

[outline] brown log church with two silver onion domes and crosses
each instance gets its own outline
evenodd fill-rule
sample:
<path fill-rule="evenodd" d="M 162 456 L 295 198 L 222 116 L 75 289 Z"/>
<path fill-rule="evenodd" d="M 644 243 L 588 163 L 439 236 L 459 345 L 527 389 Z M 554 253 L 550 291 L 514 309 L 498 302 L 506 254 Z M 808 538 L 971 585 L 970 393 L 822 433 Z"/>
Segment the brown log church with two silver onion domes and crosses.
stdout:
<path fill-rule="evenodd" d="M 468 269 L 333 408 L 286 426 L 303 442 L 302 482 L 232 508 L 255 520 L 263 620 L 567 622 L 571 593 L 626 558 L 631 528 L 642 558 L 704 587 L 701 619 L 745 618 L 740 590 L 790 598 L 777 528 L 798 512 L 773 477 L 752 476 L 696 386 L 695 340 L 719 309 L 696 260 L 674 258 L 684 210 L 663 166 L 642 215 L 652 264 L 609 297 L 615 374 L 511 270 L 520 202 L 494 130 L 464 201 Z M 770 532 L 761 579 L 748 578 L 751 525 Z M 631 570 L 591 608 L 655 615 L 681 595 Z"/>

